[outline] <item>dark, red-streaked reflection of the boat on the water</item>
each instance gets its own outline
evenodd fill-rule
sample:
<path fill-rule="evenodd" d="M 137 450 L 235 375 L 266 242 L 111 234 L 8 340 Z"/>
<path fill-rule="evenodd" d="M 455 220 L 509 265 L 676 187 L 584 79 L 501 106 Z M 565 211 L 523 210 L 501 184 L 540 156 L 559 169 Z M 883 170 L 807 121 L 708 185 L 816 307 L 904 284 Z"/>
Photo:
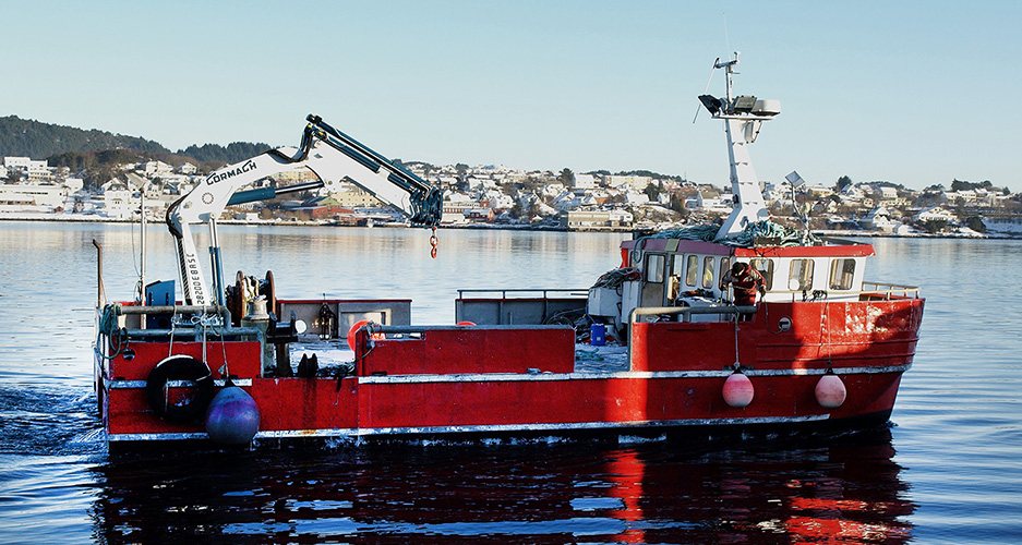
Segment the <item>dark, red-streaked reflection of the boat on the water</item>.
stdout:
<path fill-rule="evenodd" d="M 817 443 L 818 445 L 814 445 Z M 737 449 L 673 443 L 113 459 L 108 543 L 907 543 L 887 429 Z"/>

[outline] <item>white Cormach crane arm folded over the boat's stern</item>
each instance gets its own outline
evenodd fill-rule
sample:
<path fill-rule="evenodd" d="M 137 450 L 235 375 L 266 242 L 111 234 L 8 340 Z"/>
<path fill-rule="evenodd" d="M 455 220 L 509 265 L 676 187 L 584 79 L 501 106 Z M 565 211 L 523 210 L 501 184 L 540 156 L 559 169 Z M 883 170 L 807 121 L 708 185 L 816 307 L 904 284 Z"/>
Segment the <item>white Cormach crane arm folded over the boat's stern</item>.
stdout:
<path fill-rule="evenodd" d="M 167 208 L 167 226 L 176 240 L 185 305 L 224 304 L 224 274 L 216 220 L 227 206 L 265 201 L 298 191 L 333 189 L 348 181 L 400 209 L 412 225 L 436 227 L 440 223 L 443 191 L 326 124 L 318 116 L 310 114 L 305 120 L 308 124 L 298 148 L 270 149 L 212 172 Z M 302 168 L 313 171 L 320 180 L 285 187 L 239 191 L 273 174 Z M 213 299 L 192 239 L 190 226 L 193 223 L 209 226 Z"/>

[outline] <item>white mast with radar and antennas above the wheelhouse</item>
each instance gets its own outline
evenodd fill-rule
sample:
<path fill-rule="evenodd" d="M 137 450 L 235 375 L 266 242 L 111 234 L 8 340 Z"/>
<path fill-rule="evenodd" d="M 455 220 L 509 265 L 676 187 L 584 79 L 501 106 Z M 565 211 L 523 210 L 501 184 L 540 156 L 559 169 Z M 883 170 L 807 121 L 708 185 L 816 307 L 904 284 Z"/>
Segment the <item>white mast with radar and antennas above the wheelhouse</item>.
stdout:
<path fill-rule="evenodd" d="M 734 195 L 734 208 L 724 225 L 717 232 L 717 240 L 741 233 L 752 222 L 770 218 L 767 204 L 762 198 L 759 179 L 753 168 L 748 145 L 756 141 L 764 121 L 773 119 L 781 111 L 780 100 L 757 100 L 754 96 L 734 96 L 732 74 L 738 64 L 738 52 L 734 59 L 713 63 L 714 69 L 723 69 L 726 80 L 726 95 L 714 98 L 702 95 L 699 100 L 714 119 L 724 121 L 728 137 L 728 158 L 731 164 L 731 192 Z"/>

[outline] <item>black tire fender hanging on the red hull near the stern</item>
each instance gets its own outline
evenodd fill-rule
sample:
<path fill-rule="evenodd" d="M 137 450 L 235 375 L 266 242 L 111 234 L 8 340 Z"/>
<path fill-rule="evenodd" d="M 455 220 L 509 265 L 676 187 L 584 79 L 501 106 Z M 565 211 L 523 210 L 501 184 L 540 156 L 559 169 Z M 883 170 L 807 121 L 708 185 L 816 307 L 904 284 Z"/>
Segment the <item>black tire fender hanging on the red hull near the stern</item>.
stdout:
<path fill-rule="evenodd" d="M 167 383 L 170 380 L 192 380 L 195 383 L 195 392 L 187 399 L 170 402 L 167 396 Z M 213 389 L 209 367 L 183 354 L 171 355 L 157 363 L 145 380 L 145 397 L 153 412 L 167 422 L 179 424 L 205 415 L 213 400 Z"/>

